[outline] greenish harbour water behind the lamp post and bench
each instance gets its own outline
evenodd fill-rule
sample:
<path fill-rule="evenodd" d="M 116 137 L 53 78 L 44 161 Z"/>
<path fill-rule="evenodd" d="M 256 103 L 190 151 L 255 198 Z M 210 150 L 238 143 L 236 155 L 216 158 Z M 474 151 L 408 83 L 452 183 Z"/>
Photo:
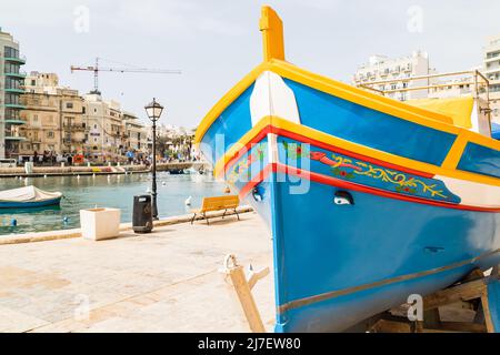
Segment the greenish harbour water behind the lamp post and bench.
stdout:
<path fill-rule="evenodd" d="M 203 196 L 223 194 L 224 185 L 209 175 L 158 174 L 158 210 L 160 217 L 189 213 L 199 206 Z M 91 207 L 121 209 L 121 221 L 131 222 L 133 196 L 147 194 L 151 186 L 150 174 L 48 176 L 1 179 L 0 190 L 34 185 L 46 191 L 61 191 L 64 197 L 60 207 L 40 210 L 0 210 L 0 235 L 44 232 L 80 226 L 79 211 Z M 191 206 L 184 201 L 189 196 Z M 12 226 L 12 220 L 17 225 Z"/>

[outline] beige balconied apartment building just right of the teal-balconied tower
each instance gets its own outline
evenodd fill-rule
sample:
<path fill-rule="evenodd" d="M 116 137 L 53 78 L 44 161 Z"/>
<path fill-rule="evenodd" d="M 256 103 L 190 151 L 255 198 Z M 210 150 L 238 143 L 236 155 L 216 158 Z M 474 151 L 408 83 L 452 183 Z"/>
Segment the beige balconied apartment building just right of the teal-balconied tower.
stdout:
<path fill-rule="evenodd" d="M 60 87 L 54 73 L 31 72 L 24 80 L 21 101 L 24 105 L 21 119 L 26 124 L 21 128 L 19 155 L 83 151 L 87 126 L 83 99 L 77 90 Z"/>

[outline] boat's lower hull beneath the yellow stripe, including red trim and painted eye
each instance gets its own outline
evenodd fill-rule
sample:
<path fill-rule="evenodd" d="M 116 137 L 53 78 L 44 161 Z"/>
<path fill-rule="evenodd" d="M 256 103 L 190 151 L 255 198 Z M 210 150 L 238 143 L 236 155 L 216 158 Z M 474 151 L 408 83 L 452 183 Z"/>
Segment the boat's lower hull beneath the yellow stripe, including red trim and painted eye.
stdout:
<path fill-rule="evenodd" d="M 226 180 L 272 231 L 277 332 L 346 331 L 410 295 L 424 296 L 500 263 L 496 211 L 459 205 L 442 182 L 411 172 L 399 173 L 420 181 L 420 189 L 406 192 L 353 173 L 356 163 L 378 166 L 372 162 L 351 158 L 332 166 L 314 159 L 348 155 L 273 132 L 231 162 Z M 422 186 L 437 194 L 430 199 Z M 353 203 L 336 204 L 339 191 Z"/>

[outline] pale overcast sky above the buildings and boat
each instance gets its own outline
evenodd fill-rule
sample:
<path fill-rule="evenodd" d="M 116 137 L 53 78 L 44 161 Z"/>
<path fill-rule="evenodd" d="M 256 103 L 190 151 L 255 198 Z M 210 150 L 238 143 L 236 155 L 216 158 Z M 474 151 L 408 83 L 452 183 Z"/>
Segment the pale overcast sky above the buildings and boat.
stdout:
<path fill-rule="evenodd" d="M 372 54 L 414 50 L 438 71 L 468 70 L 481 64 L 487 38 L 500 34 L 498 0 L 16 0 L 0 4 L 0 27 L 20 42 L 27 72 L 54 72 L 81 93 L 93 75 L 70 65 L 96 57 L 102 67 L 181 70 L 101 72 L 99 89 L 142 120 L 154 97 L 161 123 L 196 128 L 262 61 L 262 4 L 283 20 L 288 61 L 346 82 Z"/>

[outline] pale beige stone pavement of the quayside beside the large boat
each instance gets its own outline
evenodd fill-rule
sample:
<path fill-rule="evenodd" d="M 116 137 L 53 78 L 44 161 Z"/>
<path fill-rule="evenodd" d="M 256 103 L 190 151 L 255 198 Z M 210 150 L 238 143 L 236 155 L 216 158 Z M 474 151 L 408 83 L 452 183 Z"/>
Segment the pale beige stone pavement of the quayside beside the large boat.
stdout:
<path fill-rule="evenodd" d="M 0 332 L 248 332 L 219 272 L 228 253 L 272 270 L 256 213 L 101 242 L 0 245 Z M 269 331 L 272 285 L 271 272 L 253 288 Z"/>

